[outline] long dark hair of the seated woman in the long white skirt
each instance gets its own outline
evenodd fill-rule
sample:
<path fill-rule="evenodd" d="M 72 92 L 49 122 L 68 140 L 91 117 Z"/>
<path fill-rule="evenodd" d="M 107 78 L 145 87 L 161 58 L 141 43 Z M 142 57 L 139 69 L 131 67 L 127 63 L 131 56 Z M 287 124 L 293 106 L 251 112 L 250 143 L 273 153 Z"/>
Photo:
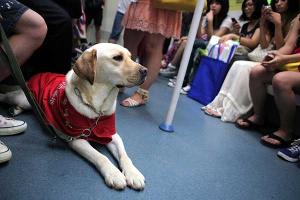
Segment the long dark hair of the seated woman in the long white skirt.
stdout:
<path fill-rule="evenodd" d="M 272 0 L 271 6 L 272 10 L 276 11 L 275 8 L 275 2 L 278 0 Z M 288 30 L 290 29 L 290 23 L 291 21 L 297 16 L 297 14 L 300 12 L 300 1 L 299 0 L 287 0 L 287 11 L 285 13 L 286 17 L 282 21 L 282 35 L 285 37 L 288 33 Z M 273 23 L 269 23 L 269 30 L 270 32 L 274 32 L 275 26 Z M 273 35 L 273 34 L 272 34 Z M 274 35 L 273 35 L 274 36 Z"/>

